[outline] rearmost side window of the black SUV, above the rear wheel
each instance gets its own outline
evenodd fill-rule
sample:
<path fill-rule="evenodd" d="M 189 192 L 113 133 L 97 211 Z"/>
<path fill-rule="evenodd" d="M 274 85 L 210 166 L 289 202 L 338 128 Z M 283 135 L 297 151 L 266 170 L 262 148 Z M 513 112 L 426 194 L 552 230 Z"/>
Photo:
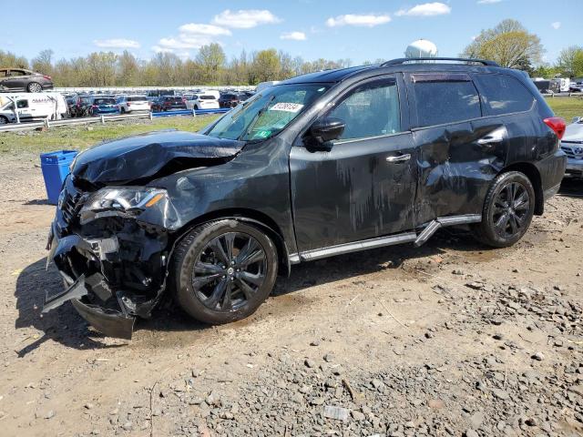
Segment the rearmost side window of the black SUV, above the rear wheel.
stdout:
<path fill-rule="evenodd" d="M 515 77 L 476 75 L 476 81 L 490 115 L 527 111 L 535 101 L 535 97 Z"/>

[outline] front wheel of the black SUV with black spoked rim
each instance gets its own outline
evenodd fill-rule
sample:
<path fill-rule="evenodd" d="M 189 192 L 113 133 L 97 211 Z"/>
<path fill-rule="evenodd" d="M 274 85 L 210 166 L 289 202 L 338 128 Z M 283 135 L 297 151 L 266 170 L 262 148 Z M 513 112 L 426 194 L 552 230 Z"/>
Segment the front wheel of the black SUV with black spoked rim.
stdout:
<path fill-rule="evenodd" d="M 201 225 L 179 241 L 170 284 L 191 317 L 223 324 L 249 317 L 259 308 L 275 285 L 277 268 L 277 249 L 267 235 L 224 219 Z"/>

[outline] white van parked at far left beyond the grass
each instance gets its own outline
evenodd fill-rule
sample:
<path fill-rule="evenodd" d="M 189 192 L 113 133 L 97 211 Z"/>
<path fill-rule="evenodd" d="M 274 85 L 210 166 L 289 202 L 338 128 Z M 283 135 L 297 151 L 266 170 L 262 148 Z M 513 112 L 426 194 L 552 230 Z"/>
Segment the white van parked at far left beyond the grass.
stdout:
<path fill-rule="evenodd" d="M 21 122 L 67 116 L 65 97 L 60 93 L 19 93 L 0 95 L 0 124 L 15 123 L 15 104 Z"/>

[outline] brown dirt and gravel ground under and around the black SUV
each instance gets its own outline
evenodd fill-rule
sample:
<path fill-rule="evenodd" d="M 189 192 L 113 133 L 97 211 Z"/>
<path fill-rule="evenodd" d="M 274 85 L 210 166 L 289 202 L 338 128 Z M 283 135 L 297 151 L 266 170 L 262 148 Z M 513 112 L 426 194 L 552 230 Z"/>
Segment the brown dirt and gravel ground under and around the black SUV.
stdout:
<path fill-rule="evenodd" d="M 317 261 L 249 320 L 166 304 L 131 342 L 41 317 L 61 283 L 36 156 L 0 187 L 2 435 L 583 435 L 583 183 L 513 248 L 444 230 Z"/>

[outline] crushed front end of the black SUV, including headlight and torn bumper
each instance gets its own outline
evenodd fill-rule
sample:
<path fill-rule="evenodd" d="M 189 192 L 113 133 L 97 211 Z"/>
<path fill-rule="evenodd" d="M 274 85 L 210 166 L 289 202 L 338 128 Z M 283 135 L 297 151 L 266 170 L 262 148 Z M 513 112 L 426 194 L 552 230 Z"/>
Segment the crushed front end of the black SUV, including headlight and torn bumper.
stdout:
<path fill-rule="evenodd" d="M 46 293 L 43 312 L 71 300 L 97 330 L 131 339 L 136 317 L 148 318 L 166 286 L 171 214 L 165 190 L 91 186 L 69 175 L 48 249 L 66 290 Z"/>

